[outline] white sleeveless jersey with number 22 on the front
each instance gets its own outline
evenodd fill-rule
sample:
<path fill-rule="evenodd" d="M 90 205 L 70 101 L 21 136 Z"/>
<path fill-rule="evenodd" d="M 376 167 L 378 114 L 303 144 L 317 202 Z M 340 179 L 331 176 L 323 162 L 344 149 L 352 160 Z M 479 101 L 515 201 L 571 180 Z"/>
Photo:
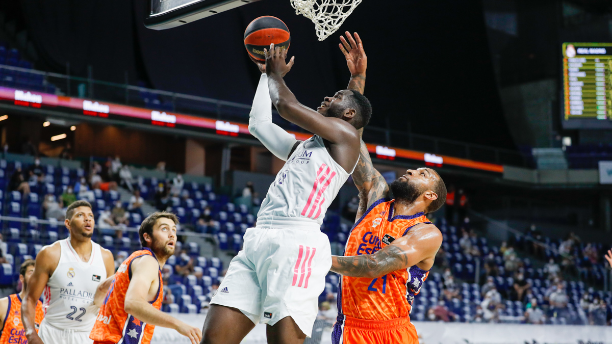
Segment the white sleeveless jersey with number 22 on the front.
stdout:
<path fill-rule="evenodd" d="M 91 242 L 89 261 L 83 261 L 70 244 L 70 237 L 59 241 L 59 264 L 43 292 L 45 322 L 59 329 L 91 331 L 98 309 L 95 290 L 106 279 L 106 266 L 100 245 Z"/>

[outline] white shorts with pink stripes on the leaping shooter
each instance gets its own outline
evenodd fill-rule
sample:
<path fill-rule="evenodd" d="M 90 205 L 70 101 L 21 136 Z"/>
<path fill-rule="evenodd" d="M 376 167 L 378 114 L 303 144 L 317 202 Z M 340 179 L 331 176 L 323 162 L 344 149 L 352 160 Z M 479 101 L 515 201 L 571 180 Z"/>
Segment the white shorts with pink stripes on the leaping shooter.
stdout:
<path fill-rule="evenodd" d="M 317 228 L 249 228 L 211 304 L 241 310 L 253 323 L 291 316 L 310 337 L 332 266 L 329 238 Z"/>

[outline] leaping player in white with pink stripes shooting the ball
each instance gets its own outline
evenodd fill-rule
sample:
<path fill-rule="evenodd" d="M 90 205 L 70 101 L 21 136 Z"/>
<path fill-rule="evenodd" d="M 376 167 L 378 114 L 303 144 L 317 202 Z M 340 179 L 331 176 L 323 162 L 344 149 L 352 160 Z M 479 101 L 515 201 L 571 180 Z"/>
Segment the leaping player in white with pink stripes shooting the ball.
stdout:
<path fill-rule="evenodd" d="M 257 225 L 244 234 L 244 249 L 231 261 L 211 300 L 202 343 L 240 343 L 255 324 L 265 323 L 269 343 L 302 343 L 310 337 L 318 296 L 331 267 L 329 239 L 320 231 L 327 207 L 359 159 L 358 129 L 368 123 L 370 102 L 359 91 L 367 59 L 359 36 L 341 37 L 349 89 L 326 97 L 316 111 L 300 104 L 284 75 L 286 51 L 271 45 L 253 100 L 249 131 L 285 166 L 270 185 Z M 347 51 L 348 50 L 348 51 Z M 280 115 L 315 133 L 296 139 L 272 123 Z"/>

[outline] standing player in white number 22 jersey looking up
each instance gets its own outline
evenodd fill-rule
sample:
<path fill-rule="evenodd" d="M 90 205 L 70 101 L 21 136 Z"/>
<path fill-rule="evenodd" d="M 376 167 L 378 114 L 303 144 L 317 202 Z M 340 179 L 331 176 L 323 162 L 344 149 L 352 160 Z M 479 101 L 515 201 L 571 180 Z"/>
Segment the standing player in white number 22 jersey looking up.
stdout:
<path fill-rule="evenodd" d="M 66 239 L 45 246 L 36 256 L 34 273 L 21 304 L 21 319 L 30 344 L 92 343 L 89 332 L 114 274 L 113 253 L 91 240 L 94 213 L 87 201 L 66 211 Z M 44 293 L 43 293 L 44 292 Z M 43 294 L 45 319 L 34 331 L 34 307 Z"/>

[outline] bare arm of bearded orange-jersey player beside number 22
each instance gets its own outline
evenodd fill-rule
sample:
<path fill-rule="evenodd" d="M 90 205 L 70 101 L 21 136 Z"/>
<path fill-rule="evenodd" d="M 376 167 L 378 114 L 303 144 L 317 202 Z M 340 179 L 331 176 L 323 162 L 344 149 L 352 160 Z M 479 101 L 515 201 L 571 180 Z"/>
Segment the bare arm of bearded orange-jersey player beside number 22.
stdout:
<path fill-rule="evenodd" d="M 189 338 L 193 344 L 200 343 L 202 331 L 185 324 L 149 303 L 147 295 L 154 281 L 159 279 L 159 263 L 152 256 L 142 256 L 132 262 L 132 279 L 125 291 L 125 312 L 143 323 L 175 329 Z"/>

